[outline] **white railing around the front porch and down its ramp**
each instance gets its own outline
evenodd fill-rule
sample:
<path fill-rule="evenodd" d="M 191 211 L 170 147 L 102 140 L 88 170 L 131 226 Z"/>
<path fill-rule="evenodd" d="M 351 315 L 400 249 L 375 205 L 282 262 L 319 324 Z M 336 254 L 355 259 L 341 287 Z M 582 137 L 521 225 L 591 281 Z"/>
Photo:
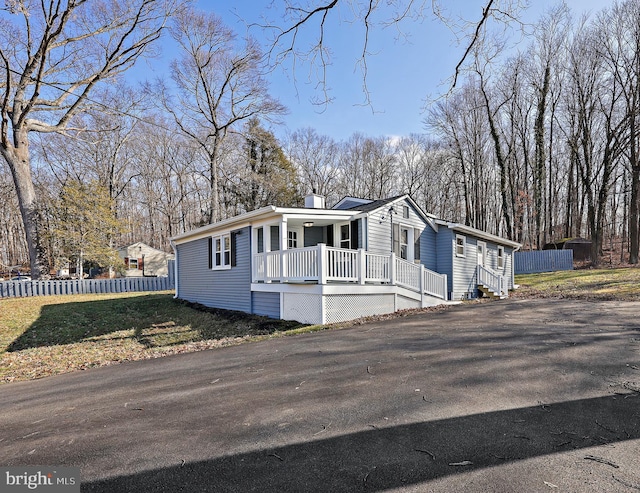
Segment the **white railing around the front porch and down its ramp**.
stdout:
<path fill-rule="evenodd" d="M 364 250 L 346 250 L 324 244 L 307 248 L 258 253 L 253 256 L 256 282 L 376 283 L 398 285 L 441 299 L 447 297 L 447 276 L 396 258 Z"/>

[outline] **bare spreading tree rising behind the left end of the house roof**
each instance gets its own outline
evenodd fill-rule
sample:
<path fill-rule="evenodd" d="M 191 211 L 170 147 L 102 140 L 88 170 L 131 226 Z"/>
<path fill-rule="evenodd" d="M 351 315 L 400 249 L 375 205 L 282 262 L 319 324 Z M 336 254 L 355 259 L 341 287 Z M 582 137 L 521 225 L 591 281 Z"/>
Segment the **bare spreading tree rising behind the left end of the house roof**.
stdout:
<path fill-rule="evenodd" d="M 180 130 L 207 159 L 210 204 L 204 219 L 213 222 L 220 219 L 218 168 L 227 134 L 251 118 L 274 118 L 286 109 L 269 95 L 255 40 L 240 43 L 219 17 L 194 9 L 176 17 L 171 35 L 181 50 L 171 64 L 176 96 L 162 82 L 156 89 Z"/>

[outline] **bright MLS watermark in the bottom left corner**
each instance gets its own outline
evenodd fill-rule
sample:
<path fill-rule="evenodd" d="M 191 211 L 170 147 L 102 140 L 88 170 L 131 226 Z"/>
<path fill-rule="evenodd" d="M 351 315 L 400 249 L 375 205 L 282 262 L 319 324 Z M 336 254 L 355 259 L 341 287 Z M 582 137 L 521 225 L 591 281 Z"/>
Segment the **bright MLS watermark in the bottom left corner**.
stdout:
<path fill-rule="evenodd" d="M 80 468 L 58 466 L 0 467 L 3 493 L 80 493 Z"/>

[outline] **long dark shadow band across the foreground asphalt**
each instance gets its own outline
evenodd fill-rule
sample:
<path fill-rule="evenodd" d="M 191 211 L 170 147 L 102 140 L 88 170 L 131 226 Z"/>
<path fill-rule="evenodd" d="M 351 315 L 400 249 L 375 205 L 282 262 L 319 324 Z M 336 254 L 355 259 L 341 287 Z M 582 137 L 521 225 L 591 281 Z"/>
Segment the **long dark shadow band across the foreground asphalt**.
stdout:
<path fill-rule="evenodd" d="M 176 458 L 175 466 L 86 482 L 82 491 L 385 491 L 636 440 L 639 418 L 639 394 L 631 392 L 432 422 L 371 426 L 367 431 L 267 450 L 226 456 L 222 450 L 214 451 L 221 456 L 200 462 L 180 464 Z M 633 478 L 637 471 L 608 459 L 609 452 L 604 448 L 602 456 L 579 455 L 580 461 L 601 470 L 608 483 L 599 483 L 597 491 L 637 487 L 638 479 Z M 539 484 L 534 485 L 514 477 L 505 491 L 544 491 L 553 486 L 545 486 L 542 479 L 537 476 Z M 575 479 L 580 484 L 587 478 Z"/>

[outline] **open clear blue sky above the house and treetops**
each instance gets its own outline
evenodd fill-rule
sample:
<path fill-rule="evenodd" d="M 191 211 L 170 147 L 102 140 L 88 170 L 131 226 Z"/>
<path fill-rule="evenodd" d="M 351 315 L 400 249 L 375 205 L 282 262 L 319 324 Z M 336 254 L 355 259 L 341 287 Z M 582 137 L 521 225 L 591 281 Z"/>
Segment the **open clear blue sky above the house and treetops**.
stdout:
<path fill-rule="evenodd" d="M 229 27 L 244 34 L 245 22 L 259 22 L 265 14 L 276 15 L 267 8 L 271 3 L 270 0 L 200 0 L 199 6 L 215 12 Z M 472 20 L 479 18 L 485 1 L 441 3 L 451 9 L 450 14 L 460 12 Z M 534 5 L 523 16 L 528 23 L 535 22 L 559 2 L 532 0 L 531 3 Z M 597 12 L 611 3 L 609 0 L 566 0 L 576 17 L 585 11 Z M 344 15 L 347 17 L 348 12 Z M 346 140 L 354 132 L 389 137 L 423 133 L 425 102 L 446 92 L 465 46 L 456 43 L 451 30 L 433 15 L 421 22 L 405 22 L 402 29 L 406 39 L 397 39 L 393 28 L 376 29 L 370 37 L 370 51 L 375 53 L 367 59 L 370 105 L 363 104 L 363 79 L 357 66 L 363 42 L 358 26 L 345 21 L 332 22 L 326 30 L 332 62 L 327 72 L 331 103 L 317 106 L 311 102 L 323 95 L 317 88 L 317 79 L 308 77 L 309 66 L 298 65 L 295 72 L 290 65 L 277 68 L 270 77 L 271 93 L 289 108 L 289 114 L 283 118 L 287 129 L 312 127 L 336 140 Z M 264 40 L 261 31 L 250 32 L 258 40 Z M 312 33 L 310 27 L 304 34 Z M 514 39 L 520 39 L 516 33 Z M 521 43 L 524 47 L 528 41 L 521 39 Z M 274 128 L 274 131 L 283 135 L 286 129 Z"/>

